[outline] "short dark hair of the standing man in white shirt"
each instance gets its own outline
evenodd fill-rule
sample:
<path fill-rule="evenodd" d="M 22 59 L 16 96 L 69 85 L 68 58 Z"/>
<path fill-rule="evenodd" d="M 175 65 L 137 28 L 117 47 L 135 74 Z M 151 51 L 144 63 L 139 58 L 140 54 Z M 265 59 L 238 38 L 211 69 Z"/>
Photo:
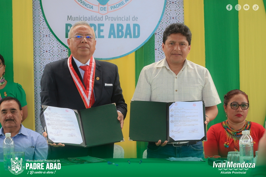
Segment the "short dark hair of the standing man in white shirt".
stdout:
<path fill-rule="evenodd" d="M 181 33 L 183 36 L 185 36 L 187 42 L 189 42 L 189 45 L 191 44 L 192 34 L 189 30 L 189 27 L 187 27 L 184 23 L 173 23 L 166 27 L 163 32 L 163 43 L 165 44 L 165 41 L 167 40 L 168 36 L 177 33 Z"/>

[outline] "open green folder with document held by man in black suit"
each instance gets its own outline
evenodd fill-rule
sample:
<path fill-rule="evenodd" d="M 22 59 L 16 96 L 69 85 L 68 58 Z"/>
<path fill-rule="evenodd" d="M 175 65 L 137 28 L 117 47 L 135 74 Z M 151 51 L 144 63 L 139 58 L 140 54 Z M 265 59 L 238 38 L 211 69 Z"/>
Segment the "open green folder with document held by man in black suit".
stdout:
<path fill-rule="evenodd" d="M 115 104 L 75 110 L 43 106 L 48 143 L 91 147 L 124 141 Z"/>

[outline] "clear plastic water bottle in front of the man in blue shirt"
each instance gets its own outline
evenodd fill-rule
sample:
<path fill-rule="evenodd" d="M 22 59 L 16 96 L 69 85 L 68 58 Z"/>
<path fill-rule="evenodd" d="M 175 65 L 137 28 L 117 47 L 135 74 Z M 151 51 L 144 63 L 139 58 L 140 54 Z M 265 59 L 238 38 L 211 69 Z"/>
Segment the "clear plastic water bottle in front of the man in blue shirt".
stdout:
<path fill-rule="evenodd" d="M 11 153 L 15 152 L 15 143 L 11 138 L 11 133 L 6 133 L 6 138 L 3 142 L 3 154 L 4 154 L 4 168 L 8 170 L 8 166 L 11 166 Z M 5 155 L 6 154 L 6 155 Z"/>

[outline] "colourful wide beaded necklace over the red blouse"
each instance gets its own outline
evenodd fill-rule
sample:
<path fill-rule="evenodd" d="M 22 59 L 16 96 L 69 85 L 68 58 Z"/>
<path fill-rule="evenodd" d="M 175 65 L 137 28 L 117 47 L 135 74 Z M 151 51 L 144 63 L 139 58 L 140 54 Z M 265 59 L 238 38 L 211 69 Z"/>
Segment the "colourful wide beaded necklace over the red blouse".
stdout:
<path fill-rule="evenodd" d="M 242 136 L 242 131 L 244 130 L 249 130 L 250 131 L 250 135 L 253 139 L 253 143 L 255 144 L 255 139 L 251 133 L 251 130 L 250 130 L 250 127 L 251 127 L 251 122 L 249 121 L 246 121 L 245 125 L 243 128 L 241 128 L 240 130 L 235 130 L 233 128 L 231 128 L 228 124 L 228 121 L 223 121 L 221 122 L 222 123 L 222 126 L 224 128 L 224 132 L 225 132 L 225 135 L 226 135 L 226 141 L 225 143 L 223 144 L 225 148 L 228 148 L 229 147 L 229 141 L 230 141 L 230 138 L 233 138 L 234 140 L 234 151 L 238 151 L 238 142 L 239 142 L 239 139 L 240 137 Z"/>

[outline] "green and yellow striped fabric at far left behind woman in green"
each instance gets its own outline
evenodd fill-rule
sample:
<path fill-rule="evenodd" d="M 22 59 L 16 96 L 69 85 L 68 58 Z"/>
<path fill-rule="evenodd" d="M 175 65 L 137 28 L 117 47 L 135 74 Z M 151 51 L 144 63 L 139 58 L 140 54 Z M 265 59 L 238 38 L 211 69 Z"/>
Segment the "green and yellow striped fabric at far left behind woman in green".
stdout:
<path fill-rule="evenodd" d="M 1 1 L 0 12 L 5 79 L 20 83 L 25 90 L 28 117 L 23 125 L 35 130 L 32 1 Z"/>

